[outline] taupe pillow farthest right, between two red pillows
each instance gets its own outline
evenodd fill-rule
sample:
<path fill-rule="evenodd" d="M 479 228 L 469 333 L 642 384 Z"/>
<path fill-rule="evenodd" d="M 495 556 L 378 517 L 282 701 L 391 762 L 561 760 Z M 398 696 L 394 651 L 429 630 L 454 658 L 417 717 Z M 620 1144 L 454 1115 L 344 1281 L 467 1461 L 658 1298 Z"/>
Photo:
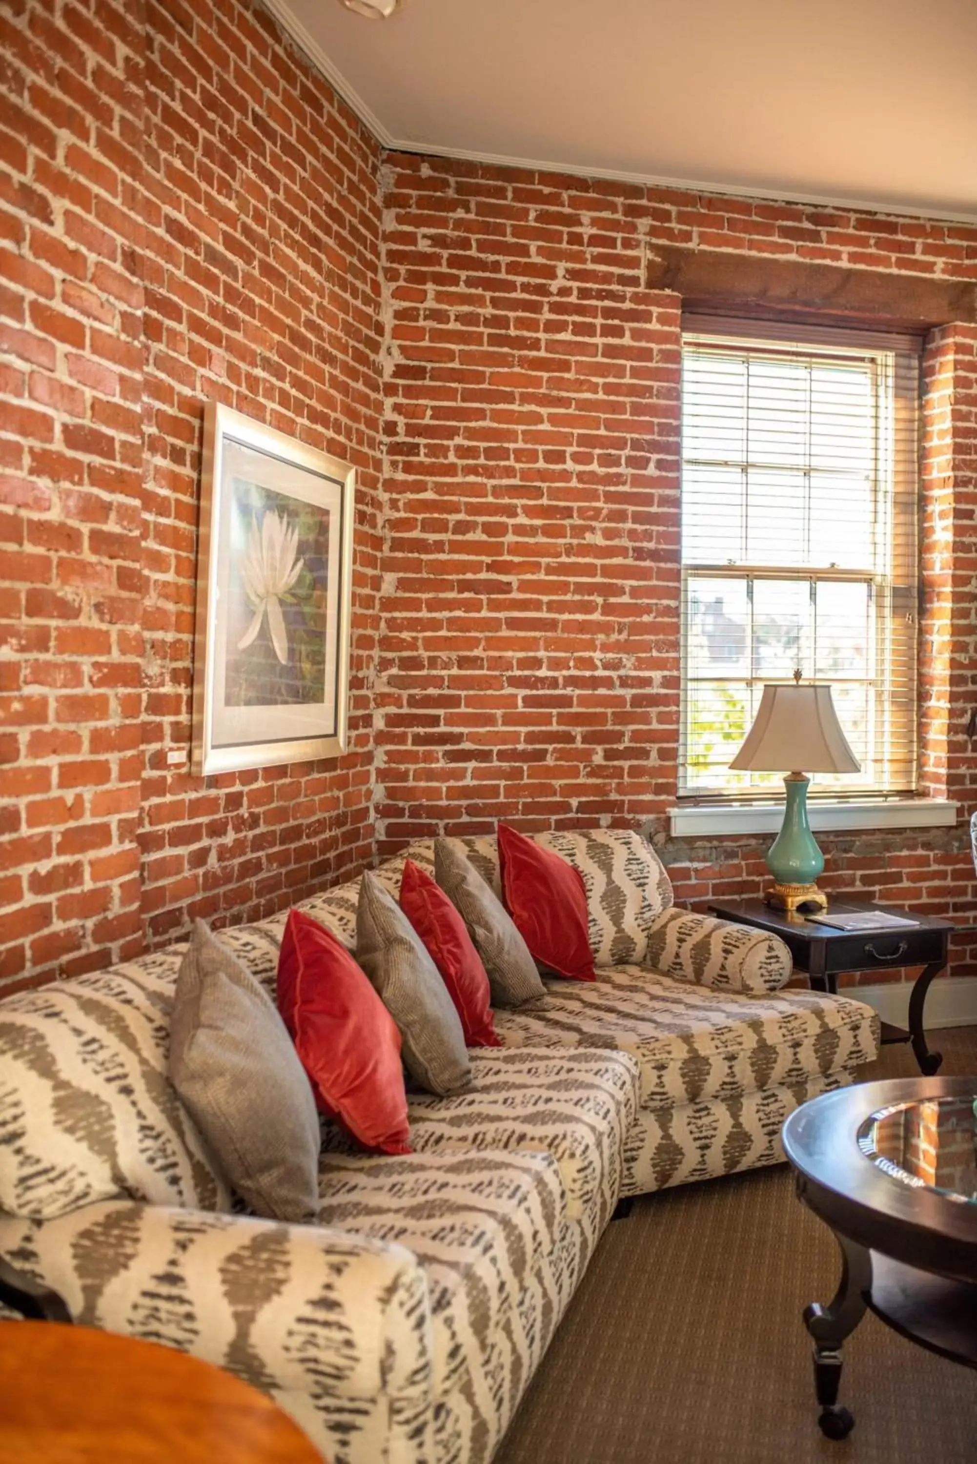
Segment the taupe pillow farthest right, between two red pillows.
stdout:
<path fill-rule="evenodd" d="M 511 915 L 451 839 L 435 839 L 434 877 L 467 925 L 488 972 L 492 1006 L 520 1007 L 545 997 L 536 962 Z"/>

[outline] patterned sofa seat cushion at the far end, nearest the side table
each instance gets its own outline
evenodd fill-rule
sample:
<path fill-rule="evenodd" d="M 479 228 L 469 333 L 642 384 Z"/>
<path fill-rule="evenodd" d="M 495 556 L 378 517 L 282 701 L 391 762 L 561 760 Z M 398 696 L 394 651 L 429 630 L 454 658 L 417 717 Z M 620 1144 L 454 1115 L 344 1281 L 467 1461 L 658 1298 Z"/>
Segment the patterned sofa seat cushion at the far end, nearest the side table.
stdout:
<path fill-rule="evenodd" d="M 548 982 L 539 1012 L 498 1012 L 507 1045 L 618 1047 L 642 1073 L 642 1108 L 850 1070 L 877 1051 L 872 1007 L 819 991 L 744 996 L 659 976 L 640 966 L 601 972 L 595 985 Z"/>

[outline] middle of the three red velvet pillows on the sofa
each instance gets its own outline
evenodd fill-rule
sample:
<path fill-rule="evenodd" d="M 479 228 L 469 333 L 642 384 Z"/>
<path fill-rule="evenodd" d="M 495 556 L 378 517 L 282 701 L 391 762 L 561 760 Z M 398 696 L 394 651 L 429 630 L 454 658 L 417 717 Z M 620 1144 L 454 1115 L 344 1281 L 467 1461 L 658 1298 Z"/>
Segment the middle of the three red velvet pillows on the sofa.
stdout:
<path fill-rule="evenodd" d="M 400 878 L 400 908 L 441 972 L 461 1017 L 464 1045 L 501 1047 L 482 957 L 448 896 L 413 859 L 407 859 Z"/>

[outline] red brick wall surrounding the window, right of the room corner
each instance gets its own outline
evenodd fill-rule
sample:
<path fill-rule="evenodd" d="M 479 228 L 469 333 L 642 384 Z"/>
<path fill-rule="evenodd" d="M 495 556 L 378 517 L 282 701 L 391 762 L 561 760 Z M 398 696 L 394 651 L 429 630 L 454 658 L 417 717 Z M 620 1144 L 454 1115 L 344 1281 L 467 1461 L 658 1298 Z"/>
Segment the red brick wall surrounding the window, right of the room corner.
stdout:
<path fill-rule="evenodd" d="M 977 228 L 400 154 L 385 183 L 381 852 L 498 817 L 526 829 L 606 820 L 653 837 L 680 899 L 757 893 L 768 836 L 668 836 L 681 302 L 642 288 L 644 249 L 977 278 Z M 942 697 L 927 668 L 927 735 L 949 751 L 926 770 L 968 815 L 977 394 L 973 331 L 945 335 L 952 407 L 932 406 L 930 441 L 936 417 L 952 417 L 952 466 L 930 476 L 952 473 L 955 568 L 945 581 L 933 542 L 927 571 L 954 671 Z M 930 357 L 936 370 L 939 346 Z M 973 918 L 962 824 L 822 843 L 828 889 Z"/>

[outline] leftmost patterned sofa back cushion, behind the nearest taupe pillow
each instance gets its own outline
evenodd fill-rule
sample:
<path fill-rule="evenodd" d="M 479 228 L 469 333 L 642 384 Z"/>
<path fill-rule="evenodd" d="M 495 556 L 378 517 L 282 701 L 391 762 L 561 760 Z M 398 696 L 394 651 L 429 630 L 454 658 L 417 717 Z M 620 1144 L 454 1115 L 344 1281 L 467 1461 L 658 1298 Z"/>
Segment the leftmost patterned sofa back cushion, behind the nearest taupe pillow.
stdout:
<path fill-rule="evenodd" d="M 183 947 L 0 1004 L 0 1211 L 97 1200 L 226 1209 L 230 1192 L 167 1078 Z"/>

